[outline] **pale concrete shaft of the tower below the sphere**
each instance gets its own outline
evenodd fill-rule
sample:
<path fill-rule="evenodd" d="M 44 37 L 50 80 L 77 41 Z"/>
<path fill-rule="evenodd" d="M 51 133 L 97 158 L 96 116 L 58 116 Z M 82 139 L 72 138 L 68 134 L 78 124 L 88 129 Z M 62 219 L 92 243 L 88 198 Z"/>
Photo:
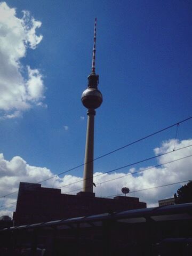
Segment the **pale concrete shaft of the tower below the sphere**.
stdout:
<path fill-rule="evenodd" d="M 87 131 L 85 145 L 85 165 L 83 175 L 83 191 L 90 193 L 93 192 L 94 115 L 94 109 L 87 110 Z"/>

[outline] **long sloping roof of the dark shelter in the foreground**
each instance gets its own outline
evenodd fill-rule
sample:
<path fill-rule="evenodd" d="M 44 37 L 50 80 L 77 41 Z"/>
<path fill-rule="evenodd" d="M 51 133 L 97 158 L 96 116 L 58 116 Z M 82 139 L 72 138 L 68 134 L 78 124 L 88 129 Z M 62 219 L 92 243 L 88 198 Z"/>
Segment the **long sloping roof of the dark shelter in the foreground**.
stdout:
<path fill-rule="evenodd" d="M 192 219 L 192 203 L 165 205 L 159 207 L 126 210 L 114 213 L 102 213 L 97 215 L 89 215 L 86 217 L 76 217 L 70 219 L 61 219 L 54 221 L 47 221 L 41 223 L 33 223 L 29 225 L 21 225 L 10 228 L 3 228 L 0 231 L 14 231 L 22 229 L 36 229 L 36 228 L 83 228 L 91 226 L 101 226 L 102 221 L 116 220 L 126 223 L 139 223 L 152 221 L 170 221 L 170 220 L 188 220 Z"/>

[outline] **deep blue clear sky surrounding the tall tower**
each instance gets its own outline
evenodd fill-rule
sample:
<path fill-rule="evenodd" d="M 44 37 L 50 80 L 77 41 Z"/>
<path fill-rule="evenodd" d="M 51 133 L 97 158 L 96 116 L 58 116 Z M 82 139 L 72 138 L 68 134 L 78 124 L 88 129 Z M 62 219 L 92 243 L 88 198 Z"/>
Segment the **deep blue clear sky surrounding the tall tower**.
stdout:
<path fill-rule="evenodd" d="M 81 94 L 91 71 L 95 17 L 96 72 L 103 94 L 95 116 L 95 157 L 191 116 L 190 1 L 6 4 L 19 19 L 27 10 L 42 22 L 35 32 L 42 41 L 34 49 L 27 47 L 19 62 L 23 79 L 29 65 L 39 71 L 44 87 L 41 106 L 31 104 L 17 118 L 6 118 L 7 110 L 1 109 L 0 149 L 6 161 L 19 156 L 54 174 L 84 162 L 86 109 Z M 191 122 L 179 126 L 180 141 L 191 138 Z M 174 139 L 175 129 L 95 161 L 95 172 L 154 156 L 154 148 Z M 135 167 L 151 164 L 157 161 Z M 83 167 L 71 174 L 82 177 Z"/>

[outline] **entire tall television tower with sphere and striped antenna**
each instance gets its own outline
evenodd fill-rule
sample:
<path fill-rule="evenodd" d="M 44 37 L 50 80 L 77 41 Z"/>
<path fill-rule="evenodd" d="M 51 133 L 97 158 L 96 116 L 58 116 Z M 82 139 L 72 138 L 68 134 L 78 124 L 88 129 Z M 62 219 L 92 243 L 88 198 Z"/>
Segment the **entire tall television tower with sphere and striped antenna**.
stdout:
<path fill-rule="evenodd" d="M 96 53 L 96 25 L 94 22 L 94 43 L 91 74 L 87 77 L 88 86 L 82 93 L 82 103 L 87 110 L 87 131 L 85 145 L 85 162 L 83 173 L 83 191 L 93 193 L 93 155 L 94 155 L 94 116 L 95 109 L 102 103 L 102 94 L 98 90 L 99 75 L 95 74 L 95 53 Z"/>

